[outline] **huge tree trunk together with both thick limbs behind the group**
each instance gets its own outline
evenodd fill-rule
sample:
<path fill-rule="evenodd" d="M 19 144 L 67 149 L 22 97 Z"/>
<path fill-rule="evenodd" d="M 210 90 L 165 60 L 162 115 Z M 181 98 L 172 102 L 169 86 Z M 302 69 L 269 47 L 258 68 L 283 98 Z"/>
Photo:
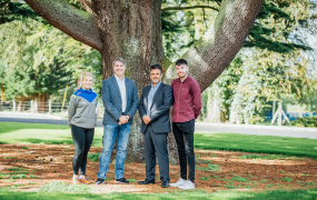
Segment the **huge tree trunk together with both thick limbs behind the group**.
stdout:
<path fill-rule="evenodd" d="M 169 72 L 165 82 L 175 78 L 174 66 L 165 58 L 161 40 L 160 0 L 79 0 L 87 12 L 65 0 L 26 0 L 51 24 L 70 37 L 97 49 L 102 58 L 103 78 L 112 72 L 112 60 L 127 61 L 126 76 L 136 81 L 140 96 L 150 83 L 149 67 L 160 63 Z M 189 60 L 190 74 L 202 91 L 227 68 L 241 48 L 264 0 L 222 0 L 216 26 L 184 58 Z M 169 69 L 168 69 L 169 68 Z M 142 160 L 140 119 L 135 116 L 129 152 Z M 177 158 L 174 137 L 169 150 Z"/>

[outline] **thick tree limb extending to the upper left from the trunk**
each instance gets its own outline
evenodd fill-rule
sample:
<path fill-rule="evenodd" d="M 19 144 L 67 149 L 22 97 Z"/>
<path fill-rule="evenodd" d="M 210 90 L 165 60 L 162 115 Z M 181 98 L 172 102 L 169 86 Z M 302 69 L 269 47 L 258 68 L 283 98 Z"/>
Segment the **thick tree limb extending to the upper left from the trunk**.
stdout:
<path fill-rule="evenodd" d="M 24 0 L 39 16 L 71 38 L 97 50 L 102 49 L 96 17 L 66 0 Z"/>

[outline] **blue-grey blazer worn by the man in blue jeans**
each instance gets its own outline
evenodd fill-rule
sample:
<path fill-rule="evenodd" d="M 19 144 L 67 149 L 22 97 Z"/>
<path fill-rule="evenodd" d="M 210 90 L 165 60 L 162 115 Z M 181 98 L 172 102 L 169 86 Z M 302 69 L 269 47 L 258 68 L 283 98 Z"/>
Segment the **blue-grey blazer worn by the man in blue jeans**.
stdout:
<path fill-rule="evenodd" d="M 125 116 L 129 116 L 128 124 L 132 124 L 133 116 L 138 109 L 138 93 L 135 81 L 125 77 L 127 108 Z M 118 124 L 122 116 L 121 94 L 116 77 L 112 76 L 102 81 L 102 102 L 105 114 L 102 124 Z"/>

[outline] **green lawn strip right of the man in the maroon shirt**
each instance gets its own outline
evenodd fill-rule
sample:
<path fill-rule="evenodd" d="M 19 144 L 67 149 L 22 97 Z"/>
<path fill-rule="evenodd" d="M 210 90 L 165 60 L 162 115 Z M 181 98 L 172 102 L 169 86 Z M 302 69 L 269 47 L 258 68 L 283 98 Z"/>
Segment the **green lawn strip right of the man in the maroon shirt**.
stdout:
<path fill-rule="evenodd" d="M 237 133 L 195 133 L 195 148 L 317 158 L 317 140 Z"/>

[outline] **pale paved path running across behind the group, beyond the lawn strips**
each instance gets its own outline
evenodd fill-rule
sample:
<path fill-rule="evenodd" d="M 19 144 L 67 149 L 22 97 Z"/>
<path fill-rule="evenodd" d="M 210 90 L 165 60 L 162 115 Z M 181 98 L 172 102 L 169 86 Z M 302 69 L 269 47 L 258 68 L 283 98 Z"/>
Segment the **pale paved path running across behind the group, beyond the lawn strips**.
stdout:
<path fill-rule="evenodd" d="M 19 113 L 19 112 L 0 112 L 0 121 L 11 122 L 27 122 L 27 123 L 51 123 L 51 124 L 68 124 L 66 118 L 34 114 L 34 113 Z M 97 120 L 97 126 L 102 127 L 102 120 Z M 245 126 L 245 124 L 229 124 L 229 123 L 204 123 L 196 122 L 196 131 L 202 132 L 230 132 L 258 136 L 278 136 L 291 138 L 309 138 L 317 139 L 317 129 L 315 128 L 296 128 L 296 127 L 276 127 L 276 126 Z"/>

